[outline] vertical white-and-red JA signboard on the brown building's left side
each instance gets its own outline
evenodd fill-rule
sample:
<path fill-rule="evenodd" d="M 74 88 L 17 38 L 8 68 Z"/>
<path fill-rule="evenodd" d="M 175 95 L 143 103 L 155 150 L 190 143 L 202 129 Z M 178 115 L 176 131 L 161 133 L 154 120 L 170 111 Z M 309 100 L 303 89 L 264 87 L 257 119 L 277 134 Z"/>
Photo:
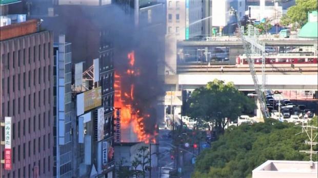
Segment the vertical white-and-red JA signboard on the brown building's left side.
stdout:
<path fill-rule="evenodd" d="M 11 117 L 5 117 L 5 169 L 11 170 Z"/>

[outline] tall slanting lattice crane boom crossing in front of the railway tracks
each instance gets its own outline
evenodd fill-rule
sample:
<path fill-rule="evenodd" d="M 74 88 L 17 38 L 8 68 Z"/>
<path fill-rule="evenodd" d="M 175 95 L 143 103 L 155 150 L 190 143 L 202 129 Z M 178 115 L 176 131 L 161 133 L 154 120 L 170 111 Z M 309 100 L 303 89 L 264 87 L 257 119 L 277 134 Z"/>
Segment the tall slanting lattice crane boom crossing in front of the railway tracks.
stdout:
<path fill-rule="evenodd" d="M 263 117 L 267 119 L 267 118 L 269 118 L 269 112 L 268 112 L 267 107 L 266 107 L 266 102 L 265 102 L 263 91 L 261 90 L 261 87 L 259 85 L 259 80 L 257 79 L 256 73 L 255 73 L 254 59 L 251 58 L 251 44 L 253 43 L 253 41 L 251 41 L 250 38 L 248 38 L 248 39 L 245 38 L 245 36 L 242 32 L 242 28 L 241 28 L 242 26 L 241 26 L 240 17 L 237 16 L 237 13 L 233 8 L 231 8 L 231 11 L 234 13 L 234 15 L 237 19 L 238 31 L 240 32 L 240 35 L 241 35 L 241 39 L 242 39 L 243 47 L 244 47 L 244 53 L 246 54 L 250 73 L 251 73 L 252 78 L 253 78 L 256 96 L 260 102 L 260 107 L 261 107 L 260 109 L 262 111 Z M 262 53 L 265 53 L 265 48 L 261 44 L 254 44 L 254 47 L 259 48 Z"/>

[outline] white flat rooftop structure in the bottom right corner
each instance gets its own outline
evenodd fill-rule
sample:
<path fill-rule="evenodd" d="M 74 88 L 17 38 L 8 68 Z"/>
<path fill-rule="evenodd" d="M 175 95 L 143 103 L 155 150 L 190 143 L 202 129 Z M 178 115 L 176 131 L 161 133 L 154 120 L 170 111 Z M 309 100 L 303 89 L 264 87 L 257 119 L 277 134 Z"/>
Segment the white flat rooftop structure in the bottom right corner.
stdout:
<path fill-rule="evenodd" d="M 252 178 L 318 177 L 317 162 L 268 160 L 252 171 Z"/>

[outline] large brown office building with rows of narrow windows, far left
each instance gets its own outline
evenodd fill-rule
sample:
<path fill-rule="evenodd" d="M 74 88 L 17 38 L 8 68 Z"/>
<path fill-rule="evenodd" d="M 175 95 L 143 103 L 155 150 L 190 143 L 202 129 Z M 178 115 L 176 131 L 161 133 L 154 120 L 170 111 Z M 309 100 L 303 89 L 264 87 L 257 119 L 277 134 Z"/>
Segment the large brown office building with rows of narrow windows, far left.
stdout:
<path fill-rule="evenodd" d="M 12 167 L 2 177 L 53 176 L 53 33 L 40 23 L 0 28 L 0 116 L 12 123 Z"/>

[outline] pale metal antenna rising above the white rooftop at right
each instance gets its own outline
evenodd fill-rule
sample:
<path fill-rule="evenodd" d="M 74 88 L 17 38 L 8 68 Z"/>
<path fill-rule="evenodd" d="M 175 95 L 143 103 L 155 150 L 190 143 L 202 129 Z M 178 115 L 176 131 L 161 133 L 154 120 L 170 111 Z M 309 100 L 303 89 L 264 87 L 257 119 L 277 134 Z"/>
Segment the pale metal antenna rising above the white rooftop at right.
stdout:
<path fill-rule="evenodd" d="M 315 135 L 313 135 L 314 133 L 312 133 L 313 129 L 318 129 L 318 127 L 315 126 L 308 126 L 308 122 L 306 123 L 306 125 L 301 126 L 303 128 L 302 132 L 296 133 L 295 135 L 299 135 L 301 133 L 304 133 L 304 131 L 306 132 L 306 135 L 309 139 L 309 141 L 305 141 L 305 144 L 310 145 L 310 150 L 300 150 L 300 152 L 305 152 L 307 154 L 310 154 L 310 162 L 312 162 L 312 154 L 317 154 L 318 151 L 313 151 L 312 150 L 312 145 L 317 145 L 317 142 L 313 142 L 315 140 L 315 138 L 317 137 L 318 133 L 316 132 Z M 310 130 L 308 130 L 310 128 Z M 310 134 L 310 135 L 309 135 Z"/>

